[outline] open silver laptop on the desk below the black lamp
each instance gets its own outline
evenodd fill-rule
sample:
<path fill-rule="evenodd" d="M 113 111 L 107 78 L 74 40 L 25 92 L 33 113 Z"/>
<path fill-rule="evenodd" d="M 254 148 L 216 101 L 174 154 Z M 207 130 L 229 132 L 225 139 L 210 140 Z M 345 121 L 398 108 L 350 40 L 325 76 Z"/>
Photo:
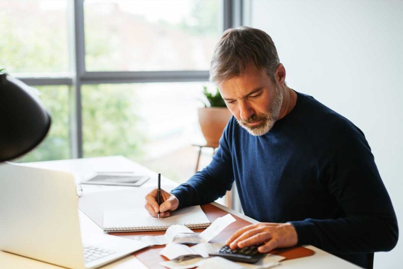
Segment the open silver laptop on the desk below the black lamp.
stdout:
<path fill-rule="evenodd" d="M 74 175 L 0 163 L 0 249 L 69 268 L 96 268 L 148 245 L 80 231 Z"/>

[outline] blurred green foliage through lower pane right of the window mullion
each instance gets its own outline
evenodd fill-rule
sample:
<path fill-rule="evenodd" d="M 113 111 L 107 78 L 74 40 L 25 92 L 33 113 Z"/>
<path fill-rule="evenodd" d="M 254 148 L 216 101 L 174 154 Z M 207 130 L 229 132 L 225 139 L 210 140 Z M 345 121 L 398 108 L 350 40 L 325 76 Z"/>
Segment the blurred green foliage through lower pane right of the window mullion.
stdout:
<path fill-rule="evenodd" d="M 143 155 L 135 92 L 131 85 L 85 85 L 82 89 L 84 157 Z"/>

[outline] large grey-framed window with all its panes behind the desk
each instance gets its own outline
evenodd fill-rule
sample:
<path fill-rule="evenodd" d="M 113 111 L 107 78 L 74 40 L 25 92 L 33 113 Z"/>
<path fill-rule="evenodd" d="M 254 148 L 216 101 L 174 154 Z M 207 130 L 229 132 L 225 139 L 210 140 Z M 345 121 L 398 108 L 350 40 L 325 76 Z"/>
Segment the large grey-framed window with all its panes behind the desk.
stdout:
<path fill-rule="evenodd" d="M 186 180 L 198 98 L 239 3 L 2 0 L 0 68 L 38 88 L 52 115 L 45 140 L 17 161 L 120 154 Z"/>

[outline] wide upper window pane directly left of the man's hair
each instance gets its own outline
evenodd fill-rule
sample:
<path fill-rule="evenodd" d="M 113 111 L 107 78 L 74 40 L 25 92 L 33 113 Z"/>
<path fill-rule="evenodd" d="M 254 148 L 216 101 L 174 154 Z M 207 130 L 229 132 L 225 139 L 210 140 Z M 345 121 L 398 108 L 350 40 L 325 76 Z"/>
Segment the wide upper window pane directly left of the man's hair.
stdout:
<path fill-rule="evenodd" d="M 219 4 L 86 0 L 87 70 L 208 70 L 221 34 Z"/>

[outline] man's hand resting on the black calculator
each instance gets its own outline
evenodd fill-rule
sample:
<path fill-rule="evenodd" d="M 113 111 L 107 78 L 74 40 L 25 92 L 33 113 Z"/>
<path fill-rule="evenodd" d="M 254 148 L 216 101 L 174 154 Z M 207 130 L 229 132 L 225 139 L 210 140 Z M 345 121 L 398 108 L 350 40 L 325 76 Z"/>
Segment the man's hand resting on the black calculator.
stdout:
<path fill-rule="evenodd" d="M 226 242 L 232 249 L 264 243 L 258 251 L 265 253 L 277 247 L 298 243 L 298 235 L 290 223 L 257 223 L 242 227 Z"/>

